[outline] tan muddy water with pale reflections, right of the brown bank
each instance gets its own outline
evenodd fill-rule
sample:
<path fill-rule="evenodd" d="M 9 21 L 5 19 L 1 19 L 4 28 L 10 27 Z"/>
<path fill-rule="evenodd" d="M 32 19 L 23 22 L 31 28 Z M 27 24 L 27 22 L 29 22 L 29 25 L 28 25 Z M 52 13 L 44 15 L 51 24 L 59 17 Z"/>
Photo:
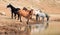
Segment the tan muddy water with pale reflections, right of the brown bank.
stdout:
<path fill-rule="evenodd" d="M 60 22 L 50 21 L 48 26 L 36 24 L 31 30 L 31 35 L 60 35 Z"/>

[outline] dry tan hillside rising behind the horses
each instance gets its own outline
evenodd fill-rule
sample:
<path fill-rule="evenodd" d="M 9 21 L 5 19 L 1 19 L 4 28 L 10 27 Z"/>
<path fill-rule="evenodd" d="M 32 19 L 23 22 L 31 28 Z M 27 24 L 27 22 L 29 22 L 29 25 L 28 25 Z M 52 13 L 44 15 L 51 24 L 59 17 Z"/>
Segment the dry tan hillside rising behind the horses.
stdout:
<path fill-rule="evenodd" d="M 6 15 L 10 15 L 10 9 L 6 8 L 9 3 L 14 7 L 27 7 L 28 9 L 35 8 L 41 9 L 46 13 L 60 14 L 59 0 L 0 0 L 0 12 L 6 12 Z"/>

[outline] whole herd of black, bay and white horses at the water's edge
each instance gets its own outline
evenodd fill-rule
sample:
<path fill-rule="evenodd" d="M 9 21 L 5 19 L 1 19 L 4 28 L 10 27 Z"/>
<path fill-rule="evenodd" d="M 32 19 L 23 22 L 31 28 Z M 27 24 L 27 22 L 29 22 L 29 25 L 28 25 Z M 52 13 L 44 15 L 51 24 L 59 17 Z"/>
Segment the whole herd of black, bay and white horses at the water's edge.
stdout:
<path fill-rule="evenodd" d="M 23 7 L 23 9 L 15 8 L 11 4 L 7 5 L 7 8 L 11 8 L 11 18 L 13 19 L 13 17 L 14 17 L 16 19 L 16 15 L 18 15 L 18 20 L 20 19 L 20 22 L 22 22 L 21 16 L 23 16 L 23 17 L 27 18 L 26 23 L 28 24 L 29 19 L 31 19 L 33 17 L 32 15 L 36 16 L 36 21 L 38 21 L 38 18 L 40 18 L 40 17 L 42 17 L 43 21 L 44 21 L 44 17 L 46 17 L 47 21 L 49 21 L 49 15 L 41 12 L 40 10 L 34 10 L 34 9 L 28 10 L 26 7 Z"/>

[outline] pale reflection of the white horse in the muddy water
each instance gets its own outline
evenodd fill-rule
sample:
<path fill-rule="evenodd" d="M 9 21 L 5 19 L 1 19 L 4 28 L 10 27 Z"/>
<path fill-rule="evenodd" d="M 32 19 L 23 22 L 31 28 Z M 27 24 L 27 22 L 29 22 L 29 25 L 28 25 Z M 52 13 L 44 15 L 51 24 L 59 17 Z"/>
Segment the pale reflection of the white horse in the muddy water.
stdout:
<path fill-rule="evenodd" d="M 31 33 L 40 32 L 48 28 L 48 22 L 29 25 Z"/>

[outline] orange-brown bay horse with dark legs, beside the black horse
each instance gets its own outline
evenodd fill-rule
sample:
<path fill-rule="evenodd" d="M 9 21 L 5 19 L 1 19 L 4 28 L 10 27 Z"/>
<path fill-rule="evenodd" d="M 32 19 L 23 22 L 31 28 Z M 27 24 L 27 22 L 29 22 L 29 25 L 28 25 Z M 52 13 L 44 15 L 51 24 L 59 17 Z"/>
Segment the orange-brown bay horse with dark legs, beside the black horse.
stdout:
<path fill-rule="evenodd" d="M 22 21 L 21 16 L 23 16 L 27 19 L 26 23 L 28 24 L 29 19 L 31 18 L 31 15 L 33 14 L 33 9 L 27 10 L 27 11 L 21 9 L 21 10 L 18 11 L 18 14 L 20 15 L 20 22 Z"/>

